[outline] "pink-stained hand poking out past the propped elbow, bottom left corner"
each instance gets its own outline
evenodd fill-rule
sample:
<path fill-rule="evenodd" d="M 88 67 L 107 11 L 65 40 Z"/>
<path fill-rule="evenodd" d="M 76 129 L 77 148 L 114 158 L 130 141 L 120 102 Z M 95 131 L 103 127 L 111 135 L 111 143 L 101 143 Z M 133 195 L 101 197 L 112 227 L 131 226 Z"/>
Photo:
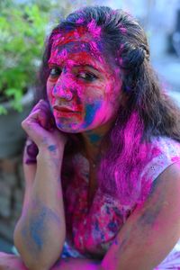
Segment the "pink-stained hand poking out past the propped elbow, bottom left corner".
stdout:
<path fill-rule="evenodd" d="M 27 270 L 20 257 L 13 254 L 0 252 L 0 269 L 1 270 Z"/>

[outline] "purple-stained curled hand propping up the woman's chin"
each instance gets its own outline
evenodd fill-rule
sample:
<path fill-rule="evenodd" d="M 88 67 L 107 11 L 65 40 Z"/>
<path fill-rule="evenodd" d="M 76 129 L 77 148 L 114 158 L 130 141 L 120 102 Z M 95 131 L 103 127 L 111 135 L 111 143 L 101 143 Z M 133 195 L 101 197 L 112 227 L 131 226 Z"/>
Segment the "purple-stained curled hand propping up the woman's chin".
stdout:
<path fill-rule="evenodd" d="M 49 103 L 40 100 L 32 109 L 29 116 L 22 122 L 26 131 L 37 148 L 64 149 L 67 136 L 57 129 L 53 116 L 49 110 Z M 34 150 L 34 145 L 31 145 Z"/>

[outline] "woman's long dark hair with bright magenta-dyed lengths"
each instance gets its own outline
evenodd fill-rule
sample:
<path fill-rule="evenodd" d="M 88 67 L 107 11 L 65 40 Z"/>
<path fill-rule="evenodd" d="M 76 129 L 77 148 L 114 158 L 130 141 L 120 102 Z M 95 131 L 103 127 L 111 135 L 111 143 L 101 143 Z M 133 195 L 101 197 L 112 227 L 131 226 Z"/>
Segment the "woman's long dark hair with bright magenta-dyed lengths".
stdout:
<path fill-rule="evenodd" d="M 103 139 L 108 148 L 99 166 L 98 184 L 104 193 L 119 197 L 126 205 L 139 199 L 139 174 L 153 151 L 150 140 L 167 136 L 180 141 L 180 111 L 158 85 L 149 63 L 146 34 L 139 23 L 130 14 L 106 6 L 87 6 L 69 14 L 51 32 L 40 69 L 40 97 L 47 98 L 48 59 L 57 33 L 92 22 L 101 28 L 99 47 L 120 67 L 122 81 L 119 112 Z M 82 147 L 80 139 L 80 134 L 73 135 L 66 153 L 72 153 L 75 146 L 76 150 Z M 144 185 L 144 196 L 149 188 Z"/>

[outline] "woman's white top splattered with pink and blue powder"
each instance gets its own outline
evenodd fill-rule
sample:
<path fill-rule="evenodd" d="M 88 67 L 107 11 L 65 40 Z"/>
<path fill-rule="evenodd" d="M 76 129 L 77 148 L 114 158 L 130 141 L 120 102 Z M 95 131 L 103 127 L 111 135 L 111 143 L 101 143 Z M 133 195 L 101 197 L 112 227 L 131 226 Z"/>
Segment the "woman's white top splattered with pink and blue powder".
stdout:
<path fill-rule="evenodd" d="M 151 141 L 157 148 L 148 164 L 140 173 L 140 181 L 153 181 L 167 166 L 180 161 L 180 143 L 167 137 L 154 137 Z M 153 156 L 154 155 L 154 156 Z M 97 188 L 88 210 L 88 160 L 81 154 L 73 158 L 76 175 L 63 185 L 67 223 L 67 239 L 61 257 L 86 257 L 103 259 L 112 241 L 134 210 L 134 205 L 121 205 L 117 199 Z M 63 179 L 62 179 L 63 183 Z M 166 259 L 156 269 L 180 269 L 180 240 Z M 175 268 L 176 267 L 176 268 Z"/>

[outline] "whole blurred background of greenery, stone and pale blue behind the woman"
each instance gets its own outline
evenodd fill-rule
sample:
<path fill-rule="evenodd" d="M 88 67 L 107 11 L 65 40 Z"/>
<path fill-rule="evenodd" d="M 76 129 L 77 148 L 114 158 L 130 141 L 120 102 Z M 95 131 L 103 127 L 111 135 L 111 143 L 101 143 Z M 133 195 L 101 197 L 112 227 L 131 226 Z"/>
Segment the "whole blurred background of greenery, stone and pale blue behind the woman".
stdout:
<path fill-rule="evenodd" d="M 59 19 L 86 4 L 122 8 L 148 35 L 151 62 L 180 105 L 180 0 L 0 0 L 0 251 L 14 252 L 23 203 L 25 135 L 43 43 Z"/>

